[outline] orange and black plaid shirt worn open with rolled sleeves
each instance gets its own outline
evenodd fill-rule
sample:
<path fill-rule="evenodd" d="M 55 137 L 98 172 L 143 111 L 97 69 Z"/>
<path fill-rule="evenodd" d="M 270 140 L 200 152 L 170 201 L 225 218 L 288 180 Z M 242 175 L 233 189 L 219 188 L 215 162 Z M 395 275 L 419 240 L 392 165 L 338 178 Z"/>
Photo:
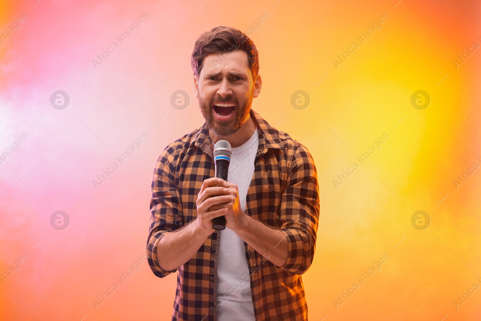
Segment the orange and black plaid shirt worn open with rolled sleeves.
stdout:
<path fill-rule="evenodd" d="M 251 117 L 257 121 L 259 147 L 244 213 L 281 231 L 288 241 L 288 258 L 281 267 L 244 242 L 255 319 L 307 320 L 301 274 L 310 267 L 316 247 L 316 166 L 301 143 L 271 127 L 252 109 Z M 219 231 L 214 231 L 194 257 L 177 270 L 163 270 L 157 259 L 162 237 L 197 217 L 197 194 L 203 181 L 215 176 L 212 146 L 204 123 L 169 144 L 153 173 L 147 256 L 159 278 L 177 271 L 172 320 L 217 320 Z"/>

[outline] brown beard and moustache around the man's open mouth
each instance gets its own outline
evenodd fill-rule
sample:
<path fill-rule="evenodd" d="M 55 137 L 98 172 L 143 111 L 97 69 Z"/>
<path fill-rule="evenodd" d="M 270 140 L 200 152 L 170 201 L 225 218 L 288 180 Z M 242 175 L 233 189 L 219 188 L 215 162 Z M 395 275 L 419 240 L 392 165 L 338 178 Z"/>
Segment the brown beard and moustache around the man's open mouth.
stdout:
<path fill-rule="evenodd" d="M 212 131 L 216 136 L 225 137 L 230 136 L 234 134 L 237 130 L 239 130 L 245 120 L 249 117 L 253 98 L 253 93 L 251 93 L 243 106 L 239 104 L 237 99 L 232 98 L 227 100 L 219 100 L 213 98 L 209 103 L 206 103 L 200 97 L 198 98 L 198 100 L 199 106 L 201 107 L 202 115 L 209 130 Z M 214 116 L 214 108 L 212 107 L 215 103 L 235 103 L 236 109 L 234 110 L 234 113 L 236 115 L 234 115 L 234 117 L 229 121 L 217 120 Z"/>

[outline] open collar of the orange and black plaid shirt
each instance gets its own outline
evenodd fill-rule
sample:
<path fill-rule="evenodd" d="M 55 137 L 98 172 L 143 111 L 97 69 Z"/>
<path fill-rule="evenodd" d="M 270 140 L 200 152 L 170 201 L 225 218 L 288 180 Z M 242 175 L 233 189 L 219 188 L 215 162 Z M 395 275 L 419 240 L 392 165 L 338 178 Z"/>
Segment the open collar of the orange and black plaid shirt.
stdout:
<path fill-rule="evenodd" d="M 258 155 L 265 154 L 269 148 L 283 148 L 278 135 L 279 131 L 277 129 L 270 126 L 269 123 L 267 123 L 266 120 L 257 114 L 253 109 L 251 109 L 251 117 L 253 117 L 253 119 L 257 122 L 257 130 L 259 135 L 259 149 L 256 157 Z M 205 153 L 214 158 L 211 147 L 212 141 L 209 137 L 209 127 L 205 122 L 193 136 L 190 146 L 192 146 L 192 144 L 201 148 Z"/>

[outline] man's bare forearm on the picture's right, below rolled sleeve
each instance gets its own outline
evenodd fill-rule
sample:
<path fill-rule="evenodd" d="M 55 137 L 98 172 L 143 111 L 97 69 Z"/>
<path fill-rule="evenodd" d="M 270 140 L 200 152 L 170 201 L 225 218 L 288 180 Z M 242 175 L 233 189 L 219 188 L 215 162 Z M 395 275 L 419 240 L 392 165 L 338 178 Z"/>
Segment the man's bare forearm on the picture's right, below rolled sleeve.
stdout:
<path fill-rule="evenodd" d="M 281 231 L 271 229 L 246 215 L 244 223 L 235 232 L 245 243 L 252 246 L 263 257 L 267 257 L 275 266 L 281 267 L 286 263 L 288 242 Z"/>

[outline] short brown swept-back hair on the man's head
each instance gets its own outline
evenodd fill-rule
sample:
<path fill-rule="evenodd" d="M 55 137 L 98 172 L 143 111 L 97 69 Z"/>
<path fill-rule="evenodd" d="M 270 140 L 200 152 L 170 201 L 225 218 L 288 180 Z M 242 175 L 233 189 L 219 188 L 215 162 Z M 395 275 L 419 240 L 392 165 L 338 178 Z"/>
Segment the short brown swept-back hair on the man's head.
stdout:
<path fill-rule="evenodd" d="M 234 50 L 243 50 L 247 52 L 249 69 L 252 73 L 252 79 L 255 81 L 259 73 L 259 53 L 253 41 L 241 30 L 218 26 L 210 31 L 204 32 L 195 41 L 194 50 L 190 56 L 190 64 L 194 75 L 199 77 L 202 69 L 203 59 L 211 53 L 227 53 Z"/>

